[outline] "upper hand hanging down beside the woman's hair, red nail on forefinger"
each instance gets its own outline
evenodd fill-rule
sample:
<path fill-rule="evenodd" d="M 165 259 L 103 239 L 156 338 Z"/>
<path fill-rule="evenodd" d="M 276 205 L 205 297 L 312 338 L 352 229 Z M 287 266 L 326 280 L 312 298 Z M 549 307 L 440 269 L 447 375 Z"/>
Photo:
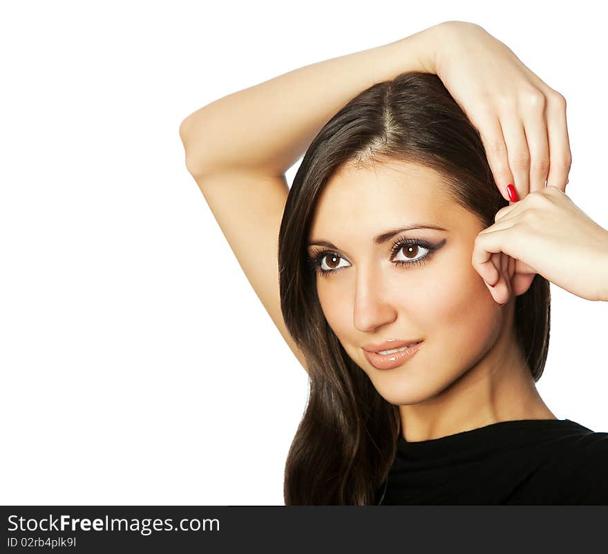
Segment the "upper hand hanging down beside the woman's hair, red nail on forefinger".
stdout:
<path fill-rule="evenodd" d="M 520 200 L 547 184 L 566 191 L 571 151 L 566 100 L 484 28 L 441 24 L 435 73 L 482 137 L 498 189 Z"/>

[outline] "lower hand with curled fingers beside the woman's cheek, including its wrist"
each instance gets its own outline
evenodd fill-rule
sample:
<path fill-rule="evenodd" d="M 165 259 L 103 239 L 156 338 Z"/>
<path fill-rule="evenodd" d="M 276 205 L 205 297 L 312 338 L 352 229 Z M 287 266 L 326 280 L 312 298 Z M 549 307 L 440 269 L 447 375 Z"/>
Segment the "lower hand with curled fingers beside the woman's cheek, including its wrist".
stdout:
<path fill-rule="evenodd" d="M 557 187 L 497 211 L 473 247 L 473 267 L 500 305 L 535 274 L 587 300 L 608 300 L 608 231 Z M 494 285 L 494 286 L 492 286 Z"/>

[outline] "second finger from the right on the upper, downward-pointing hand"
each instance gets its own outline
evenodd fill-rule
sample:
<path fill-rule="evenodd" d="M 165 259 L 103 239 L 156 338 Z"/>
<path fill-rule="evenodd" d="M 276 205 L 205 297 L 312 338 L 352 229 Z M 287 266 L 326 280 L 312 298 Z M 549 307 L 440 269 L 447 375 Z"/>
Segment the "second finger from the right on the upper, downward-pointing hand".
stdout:
<path fill-rule="evenodd" d="M 549 139 L 544 111 L 547 101 L 542 93 L 534 98 L 524 120 L 524 132 L 530 151 L 530 192 L 542 191 L 549 175 Z"/>

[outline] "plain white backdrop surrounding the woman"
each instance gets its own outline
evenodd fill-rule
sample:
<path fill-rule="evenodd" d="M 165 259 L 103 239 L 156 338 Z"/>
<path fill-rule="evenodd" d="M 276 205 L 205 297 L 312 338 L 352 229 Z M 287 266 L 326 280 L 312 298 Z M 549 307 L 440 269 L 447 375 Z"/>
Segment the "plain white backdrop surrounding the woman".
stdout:
<path fill-rule="evenodd" d="M 596 6 L 3 3 L 0 502 L 283 504 L 307 375 L 187 173 L 180 122 L 292 69 L 474 21 L 566 97 L 567 194 L 608 227 Z M 551 286 L 538 389 L 558 418 L 608 431 L 608 304 Z"/>

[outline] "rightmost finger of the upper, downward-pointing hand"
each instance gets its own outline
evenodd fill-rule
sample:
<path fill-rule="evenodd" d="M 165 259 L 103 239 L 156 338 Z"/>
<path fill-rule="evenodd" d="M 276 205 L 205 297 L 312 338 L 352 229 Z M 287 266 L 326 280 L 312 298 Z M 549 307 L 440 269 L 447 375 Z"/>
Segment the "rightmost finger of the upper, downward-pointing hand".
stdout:
<path fill-rule="evenodd" d="M 572 165 L 572 154 L 566 121 L 566 99 L 556 90 L 553 90 L 553 94 L 548 97 L 547 134 L 549 136 L 547 184 L 566 192 L 568 174 Z"/>

